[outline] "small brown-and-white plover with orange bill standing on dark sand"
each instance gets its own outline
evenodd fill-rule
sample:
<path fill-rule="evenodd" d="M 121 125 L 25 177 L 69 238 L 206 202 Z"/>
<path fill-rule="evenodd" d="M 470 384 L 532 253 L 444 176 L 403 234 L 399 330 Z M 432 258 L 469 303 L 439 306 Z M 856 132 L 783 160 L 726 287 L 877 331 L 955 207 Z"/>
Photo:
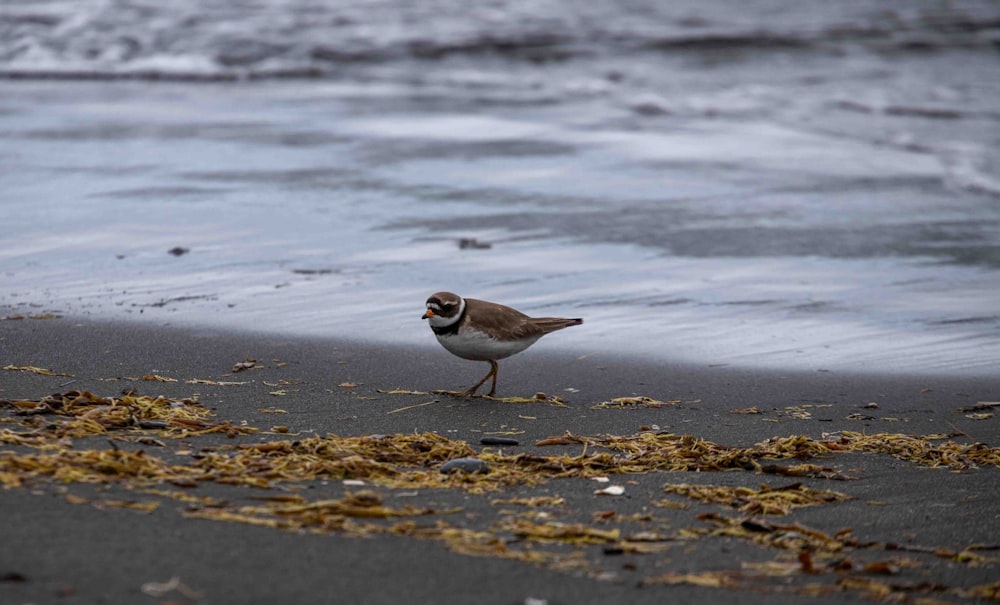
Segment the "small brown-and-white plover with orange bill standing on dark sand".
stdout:
<path fill-rule="evenodd" d="M 426 307 L 421 319 L 427 320 L 442 347 L 462 359 L 490 362 L 482 380 L 467 391 L 451 393 L 463 397 L 475 395 L 490 377 L 493 384 L 487 397 L 492 397 L 497 390 L 498 359 L 520 353 L 549 332 L 583 323 L 579 317 L 529 317 L 505 305 L 452 292 L 432 294 Z"/>

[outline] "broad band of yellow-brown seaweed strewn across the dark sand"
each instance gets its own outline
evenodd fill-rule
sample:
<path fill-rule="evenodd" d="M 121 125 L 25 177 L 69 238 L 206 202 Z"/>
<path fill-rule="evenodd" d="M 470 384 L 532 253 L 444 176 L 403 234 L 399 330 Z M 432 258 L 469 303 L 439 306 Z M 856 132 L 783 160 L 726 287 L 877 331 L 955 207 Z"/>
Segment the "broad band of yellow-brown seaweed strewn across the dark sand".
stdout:
<path fill-rule="evenodd" d="M 638 499 L 643 490 L 628 488 L 628 477 L 659 471 L 737 471 L 727 475 L 727 483 L 753 481 L 750 473 L 844 479 L 837 469 L 813 461 L 834 464 L 826 461 L 847 453 L 889 455 L 954 471 L 1000 468 L 1000 448 L 949 435 L 843 431 L 820 438 L 781 436 L 731 447 L 694 435 L 659 431 L 565 433 L 537 443 L 568 446 L 572 450 L 568 453 L 543 455 L 526 448 L 512 455 L 490 448 L 477 453 L 465 441 L 435 433 L 277 437 L 246 423 L 220 421 L 193 398 L 136 393 L 101 397 L 69 391 L 0 405 L 5 412 L 10 410 L 5 419 L 9 428 L 0 430 L 0 443 L 11 446 L 0 450 L 0 485 L 33 490 L 53 486 L 64 491 L 69 501 L 91 506 L 148 512 L 174 499 L 184 503 L 186 518 L 296 532 L 409 536 L 439 541 L 461 554 L 515 560 L 592 578 L 622 577 L 620 563 L 615 564 L 618 575 L 608 575 L 601 568 L 607 565 L 602 563 L 602 554 L 655 556 L 677 543 L 695 548 L 699 541 L 739 540 L 774 549 L 779 555 L 773 561 L 737 563 L 734 569 L 661 575 L 644 582 L 701 582 L 801 595 L 846 590 L 892 601 L 938 595 L 991 598 L 990 591 L 998 590 L 990 584 L 932 590 L 905 580 L 908 569 L 918 564 L 927 567 L 927 560 L 970 568 L 995 566 L 996 559 L 988 556 L 995 547 L 947 549 L 921 546 L 904 537 L 895 543 L 874 542 L 855 537 L 849 528 L 827 533 L 801 523 L 776 522 L 800 507 L 836 506 L 850 498 L 819 489 L 811 481 L 755 487 L 671 483 L 663 489 L 672 498 L 683 496 L 701 504 L 643 500 L 638 502 L 642 505 L 638 512 L 604 510 L 596 515 L 575 506 L 580 501 L 571 499 L 569 493 L 566 498 L 554 493 L 573 481 L 595 480 L 601 485 L 593 487 L 601 489 L 594 493 L 623 496 L 629 490 L 631 498 Z M 241 443 L 212 437 L 230 433 L 256 433 L 266 440 Z M 179 436 L 187 439 L 137 449 L 143 439 Z M 198 447 L 194 438 L 202 436 L 205 440 Z M 487 436 L 483 440 L 489 438 L 503 439 Z M 206 483 L 218 489 L 248 486 L 274 491 L 261 496 L 256 490 L 234 490 L 228 501 L 191 490 Z M 80 484 L 100 485 L 101 497 L 94 499 L 93 490 L 77 491 L 74 486 Z M 353 488 L 362 489 L 350 492 Z M 482 509 L 474 509 L 473 514 L 470 509 L 448 518 L 445 515 L 459 509 L 397 506 L 399 501 L 393 500 L 406 496 L 407 501 L 419 503 L 413 498 L 442 489 L 462 490 L 473 501 L 492 494 L 487 502 L 495 508 L 488 509 L 492 514 L 484 515 Z M 331 490 L 335 492 L 332 497 Z M 122 491 L 128 495 L 112 495 Z M 574 497 L 589 497 L 590 491 L 577 490 Z M 701 514 L 695 518 L 696 513 Z M 669 522 L 658 518 L 668 514 Z M 420 515 L 435 518 L 431 522 L 415 519 Z M 695 524 L 679 525 L 684 518 Z M 878 554 L 886 552 L 892 556 Z M 794 582 L 775 582 L 777 577 Z"/>

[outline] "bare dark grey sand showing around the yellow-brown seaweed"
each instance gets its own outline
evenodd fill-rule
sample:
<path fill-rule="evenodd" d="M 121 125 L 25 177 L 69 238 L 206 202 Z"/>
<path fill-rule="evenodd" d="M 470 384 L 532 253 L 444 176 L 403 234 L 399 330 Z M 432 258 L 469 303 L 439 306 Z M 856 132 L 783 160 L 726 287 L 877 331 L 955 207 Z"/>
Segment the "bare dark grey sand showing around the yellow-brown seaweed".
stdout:
<path fill-rule="evenodd" d="M 550 338 L 556 338 L 555 336 Z M 511 453 L 543 455 L 579 453 L 576 447 L 536 447 L 537 440 L 569 431 L 578 435 L 631 435 L 640 427 L 689 434 L 728 446 L 750 446 L 769 437 L 824 432 L 863 431 L 924 435 L 948 433 L 962 442 L 1000 442 L 1000 418 L 975 420 L 959 408 L 979 401 L 1000 400 L 1000 377 L 959 379 L 937 376 L 842 375 L 830 372 L 774 374 L 730 367 L 653 366 L 601 355 L 584 358 L 546 353 L 545 341 L 528 352 L 501 362 L 498 396 L 557 394 L 569 407 L 544 403 L 514 404 L 447 396 L 386 395 L 376 389 L 460 389 L 477 380 L 486 364 L 450 356 L 432 344 L 425 349 L 377 348 L 323 340 L 239 335 L 135 324 L 79 323 L 68 318 L 0 322 L 0 366 L 38 366 L 70 376 L 0 372 L 0 399 L 38 399 L 69 389 L 117 395 L 136 388 L 149 395 L 190 397 L 198 394 L 220 419 L 253 426 L 282 424 L 303 435 L 366 435 L 437 432 L 468 441 L 477 450 L 488 432 L 517 432 L 520 446 Z M 245 357 L 263 369 L 231 374 Z M 274 360 L 286 362 L 279 365 Z M 178 382 L 128 380 L 158 374 Z M 122 380 L 108 379 L 122 378 Z M 185 384 L 188 379 L 250 381 L 235 387 Z M 265 384 L 288 381 L 283 396 Z M 342 383 L 357 383 L 345 388 Z M 566 391 L 565 389 L 576 389 Z M 660 408 L 593 409 L 615 397 L 647 395 L 682 400 Z M 436 403 L 395 413 L 406 406 Z M 863 407 L 870 402 L 877 408 Z M 734 414 L 735 408 L 757 406 L 759 415 Z M 811 406 L 811 407 L 810 407 Z M 259 410 L 280 407 L 276 417 Z M 796 418 L 807 412 L 808 418 Z M 8 410 L 9 411 L 9 410 Z M 849 419 L 862 414 L 869 419 Z M 6 414 L 0 414 L 3 416 Z M 802 414 L 799 414 L 802 415 Z M 0 429 L 5 428 L 0 425 Z M 523 432 L 522 432 L 523 431 Z M 241 436 L 254 443 L 281 435 Z M 181 444 L 168 443 L 168 448 Z M 6 449 L 7 446 L 3 446 Z M 107 447 L 106 442 L 88 447 Z M 125 447 L 122 445 L 122 447 Z M 508 450 L 505 450 L 508 451 Z M 881 454 L 849 454 L 818 461 L 856 480 L 804 480 L 811 487 L 833 489 L 854 500 L 794 511 L 775 523 L 801 523 L 834 533 L 851 528 L 861 541 L 899 543 L 919 551 L 961 550 L 970 544 L 1000 543 L 1000 470 L 971 469 L 956 473 L 928 469 Z M 628 483 L 631 481 L 632 483 Z M 794 481 L 788 477 L 728 473 L 649 473 L 612 477 L 624 483 L 622 497 L 598 497 L 600 485 L 582 479 L 553 480 L 544 488 L 513 491 L 521 495 L 558 494 L 568 509 L 566 521 L 597 526 L 593 513 L 649 512 L 652 500 L 665 497 L 665 483 L 711 483 L 756 487 Z M 316 486 L 342 494 L 340 485 Z M 230 488 L 233 489 L 233 488 Z M 496 507 L 496 494 L 472 497 L 458 490 L 431 495 L 375 489 L 387 502 L 414 500 L 418 505 L 463 507 L 470 524 L 486 528 Z M 202 485 L 199 493 L 219 486 Z M 785 594 L 784 578 L 761 582 L 757 591 L 649 584 L 644 580 L 667 572 L 739 569 L 744 561 L 771 561 L 789 553 L 775 552 L 745 540 L 725 537 L 679 542 L 664 553 L 605 554 L 601 545 L 587 547 L 604 579 L 534 567 L 493 557 L 450 552 L 444 544 L 395 536 L 350 538 L 333 534 L 299 534 L 242 523 L 183 518 L 180 503 L 167 501 L 152 513 L 100 509 L 68 503 L 65 494 L 101 497 L 90 486 L 53 486 L 0 491 L 3 548 L 0 549 L 2 603 L 481 603 L 517 604 L 526 598 L 554 603 L 662 603 L 708 600 L 733 603 L 803 602 Z M 523 493 L 522 493 L 523 492 Z M 107 493 L 114 495 L 114 488 Z M 106 494 L 105 494 L 106 495 Z M 121 497 L 121 494 L 117 494 Z M 231 494 L 230 494 L 230 497 Z M 683 498 L 674 497 L 678 501 Z M 690 509 L 654 510 L 674 531 L 700 523 L 694 515 L 736 515 L 721 505 L 688 501 Z M 677 515 L 671 521 L 671 515 Z M 449 519 L 461 523 L 462 519 Z M 426 521 L 434 523 L 434 519 Z M 704 524 L 702 524 L 704 525 Z M 638 527 L 637 529 L 642 529 Z M 977 551 L 1000 557 L 996 550 Z M 888 579 L 912 589 L 916 597 L 973 602 L 962 589 L 996 581 L 1000 566 L 973 566 L 920 552 L 859 550 L 861 561 L 893 557 L 918 559 Z M 791 554 L 794 560 L 794 553 Z M 863 575 L 863 574 L 862 574 Z M 143 594 L 146 582 L 177 576 L 197 591 L 193 599 L 177 592 L 155 598 Z M 868 576 L 865 576 L 868 577 Z M 22 581 L 23 578 L 23 581 Z M 819 578 L 836 584 L 830 574 Z M 923 584 L 921 584 L 923 583 Z M 928 588 L 933 584 L 939 588 Z M 948 591 L 945 591 L 945 588 Z M 806 602 L 854 602 L 857 591 L 811 597 Z M 864 593 L 861 596 L 871 596 Z"/>

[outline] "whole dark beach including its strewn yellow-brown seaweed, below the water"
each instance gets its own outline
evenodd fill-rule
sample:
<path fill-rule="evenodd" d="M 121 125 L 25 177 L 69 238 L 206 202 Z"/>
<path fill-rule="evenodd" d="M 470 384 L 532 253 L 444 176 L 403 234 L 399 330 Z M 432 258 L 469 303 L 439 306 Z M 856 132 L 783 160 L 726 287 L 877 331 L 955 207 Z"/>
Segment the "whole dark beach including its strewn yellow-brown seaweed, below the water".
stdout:
<path fill-rule="evenodd" d="M 1000 379 L 656 366 L 539 346 L 501 363 L 498 396 L 546 399 L 494 401 L 432 393 L 468 386 L 484 365 L 434 346 L 68 318 L 0 328 L 0 498 L 5 542 L 17 545 L 0 554 L 5 603 L 966 603 L 996 595 L 998 469 L 989 461 L 1000 431 L 981 402 L 998 399 Z M 196 399 L 213 414 L 202 426 L 230 428 L 185 433 L 168 420 L 57 439 L 70 413 L 31 412 L 24 402 L 69 391 L 162 396 L 173 409 Z M 431 448 L 420 462 L 399 460 L 389 478 L 275 474 L 265 489 L 220 474 L 222 460 L 235 460 L 227 457 L 269 451 L 276 464 L 286 451 L 257 444 L 299 447 L 331 435 L 337 447 L 376 440 L 365 450 L 376 458 L 403 439 L 440 439 L 435 448 L 471 448 L 466 457 L 490 468 L 445 475 L 451 454 Z M 901 441 L 926 435 L 938 437 Z M 804 452 L 819 450 L 760 454 L 766 440 L 791 436 L 839 445 L 808 459 Z M 639 452 L 649 443 L 642 438 L 656 445 Z M 682 443 L 700 445 L 650 458 Z M 746 448 L 753 463 L 693 472 L 712 470 L 697 468 L 709 463 L 705 452 L 731 448 Z M 105 469 L 94 483 L 77 458 L 82 474 L 58 478 L 32 457 L 124 461 L 123 452 L 138 451 L 203 470 L 218 456 L 219 466 L 191 481 L 167 470 L 157 478 Z M 649 462 L 683 455 L 692 456 L 690 470 Z M 620 472 L 629 460 L 638 466 Z M 612 486 L 621 493 L 596 493 Z M 768 492 L 782 490 L 815 501 L 761 508 Z M 304 510 L 315 514 L 293 515 Z"/>

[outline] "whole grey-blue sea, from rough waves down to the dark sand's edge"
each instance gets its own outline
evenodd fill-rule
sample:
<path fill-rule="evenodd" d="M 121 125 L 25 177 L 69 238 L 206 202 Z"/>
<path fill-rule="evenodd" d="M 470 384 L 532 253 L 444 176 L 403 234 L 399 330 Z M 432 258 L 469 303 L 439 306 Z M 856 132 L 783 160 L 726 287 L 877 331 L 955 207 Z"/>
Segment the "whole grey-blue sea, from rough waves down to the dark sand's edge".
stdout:
<path fill-rule="evenodd" d="M 5 0 L 0 212 L 11 313 L 993 374 L 1000 5 Z"/>

